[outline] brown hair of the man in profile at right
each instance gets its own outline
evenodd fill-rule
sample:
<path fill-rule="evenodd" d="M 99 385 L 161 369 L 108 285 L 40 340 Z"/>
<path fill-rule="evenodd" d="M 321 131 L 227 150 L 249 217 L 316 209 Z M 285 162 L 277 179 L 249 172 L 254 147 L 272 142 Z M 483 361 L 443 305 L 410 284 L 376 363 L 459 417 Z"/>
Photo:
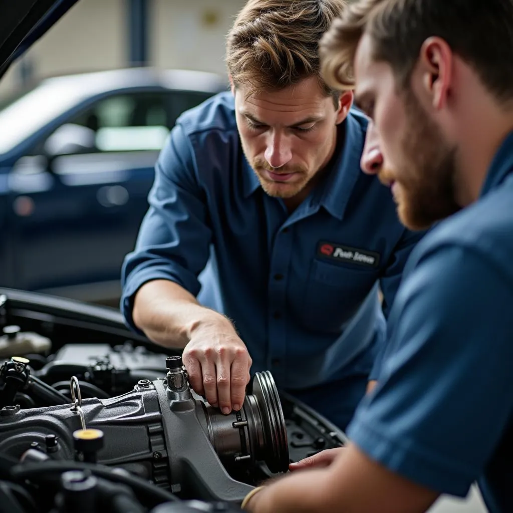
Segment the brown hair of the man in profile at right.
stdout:
<path fill-rule="evenodd" d="M 513 0 L 356 0 L 320 44 L 322 74 L 331 87 L 353 86 L 363 34 L 371 37 L 374 60 L 391 65 L 400 88 L 408 87 L 424 41 L 438 36 L 498 100 L 513 98 Z"/>

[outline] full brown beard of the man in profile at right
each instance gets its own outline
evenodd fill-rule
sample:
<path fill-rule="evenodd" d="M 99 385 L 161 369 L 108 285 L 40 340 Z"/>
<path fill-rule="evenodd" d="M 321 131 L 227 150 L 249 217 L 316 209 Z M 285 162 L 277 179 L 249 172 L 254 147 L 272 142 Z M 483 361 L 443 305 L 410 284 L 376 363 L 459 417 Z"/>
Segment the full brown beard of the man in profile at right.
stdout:
<path fill-rule="evenodd" d="M 447 144 L 413 92 L 406 93 L 405 108 L 404 165 L 398 169 L 395 199 L 401 222 L 423 230 L 461 208 L 455 199 L 456 148 Z M 384 170 L 380 178 L 394 180 L 394 174 Z"/>

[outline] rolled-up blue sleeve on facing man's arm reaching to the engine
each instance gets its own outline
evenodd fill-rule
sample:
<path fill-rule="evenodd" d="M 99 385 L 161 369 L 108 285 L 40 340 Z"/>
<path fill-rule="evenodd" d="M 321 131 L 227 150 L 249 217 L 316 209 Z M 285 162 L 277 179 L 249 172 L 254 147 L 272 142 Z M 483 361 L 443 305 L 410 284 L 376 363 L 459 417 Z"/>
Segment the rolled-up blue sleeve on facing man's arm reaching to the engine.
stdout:
<path fill-rule="evenodd" d="M 198 183 L 191 145 L 180 124 L 157 160 L 148 202 L 135 249 L 122 268 L 121 310 L 135 331 L 139 330 L 132 319 L 133 299 L 142 285 L 170 280 L 197 295 L 198 275 L 209 258 L 206 193 Z"/>

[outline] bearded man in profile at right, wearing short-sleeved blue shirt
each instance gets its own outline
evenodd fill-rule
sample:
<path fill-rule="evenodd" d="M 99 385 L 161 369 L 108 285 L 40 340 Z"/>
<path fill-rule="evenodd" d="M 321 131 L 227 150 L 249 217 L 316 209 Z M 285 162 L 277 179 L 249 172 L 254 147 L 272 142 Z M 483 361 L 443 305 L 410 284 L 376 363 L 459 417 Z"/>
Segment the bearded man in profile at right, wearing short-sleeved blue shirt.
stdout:
<path fill-rule="evenodd" d="M 356 0 L 321 47 L 328 83 L 356 80 L 401 220 L 447 219 L 411 253 L 349 446 L 244 507 L 417 513 L 478 481 L 511 513 L 513 2 Z"/>

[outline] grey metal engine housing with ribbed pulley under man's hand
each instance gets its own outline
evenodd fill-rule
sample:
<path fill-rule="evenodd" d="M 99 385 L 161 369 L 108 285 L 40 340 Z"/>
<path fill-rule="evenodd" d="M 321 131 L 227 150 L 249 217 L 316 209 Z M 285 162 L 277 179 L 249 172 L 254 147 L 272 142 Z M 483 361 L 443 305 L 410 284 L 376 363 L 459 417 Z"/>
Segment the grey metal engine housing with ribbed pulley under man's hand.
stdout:
<path fill-rule="evenodd" d="M 174 358 L 171 365 L 173 358 L 168 359 L 166 379 L 140 380 L 119 397 L 77 399 L 73 405 L 45 408 L 3 407 L 0 453 L 22 458 L 29 448 L 50 443 L 52 459 L 73 460 L 78 451 L 82 461 L 97 458 L 173 492 L 234 502 L 251 488 L 230 477 L 223 462 L 243 469 L 264 462 L 271 472 L 286 471 L 285 419 L 271 374 L 257 373 L 253 394 L 246 396 L 242 409 L 223 415 L 190 390 L 181 358 Z M 21 376 L 23 364 L 16 360 L 6 362 L 2 371 L 7 369 L 4 373 L 10 376 L 13 364 L 18 365 L 16 376 Z M 99 440 L 95 432 L 102 433 L 101 445 L 94 445 Z M 91 448 L 86 450 L 87 445 Z"/>

